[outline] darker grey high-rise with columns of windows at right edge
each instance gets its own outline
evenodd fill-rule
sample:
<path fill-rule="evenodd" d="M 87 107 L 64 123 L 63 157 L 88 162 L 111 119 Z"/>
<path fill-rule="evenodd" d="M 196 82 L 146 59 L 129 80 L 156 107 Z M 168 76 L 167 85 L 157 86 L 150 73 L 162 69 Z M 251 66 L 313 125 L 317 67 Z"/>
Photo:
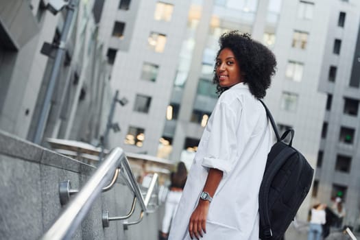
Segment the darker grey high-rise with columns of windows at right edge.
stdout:
<path fill-rule="evenodd" d="M 332 204 L 340 197 L 343 224 L 359 228 L 360 216 L 360 3 L 334 1 L 319 90 L 326 93 L 312 197 Z"/>

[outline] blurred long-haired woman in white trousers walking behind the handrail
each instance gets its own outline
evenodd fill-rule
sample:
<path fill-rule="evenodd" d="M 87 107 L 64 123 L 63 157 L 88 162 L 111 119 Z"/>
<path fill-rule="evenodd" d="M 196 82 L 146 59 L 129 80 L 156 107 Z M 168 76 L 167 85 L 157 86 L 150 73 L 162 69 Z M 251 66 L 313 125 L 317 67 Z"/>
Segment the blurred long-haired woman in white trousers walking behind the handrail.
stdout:
<path fill-rule="evenodd" d="M 167 239 L 171 220 L 178 209 L 182 189 L 184 189 L 185 182 L 187 182 L 187 167 L 183 162 L 178 163 L 178 170 L 171 173 L 170 191 L 167 194 L 165 203 L 165 213 L 163 217 L 163 226 L 161 228 L 160 240 Z"/>

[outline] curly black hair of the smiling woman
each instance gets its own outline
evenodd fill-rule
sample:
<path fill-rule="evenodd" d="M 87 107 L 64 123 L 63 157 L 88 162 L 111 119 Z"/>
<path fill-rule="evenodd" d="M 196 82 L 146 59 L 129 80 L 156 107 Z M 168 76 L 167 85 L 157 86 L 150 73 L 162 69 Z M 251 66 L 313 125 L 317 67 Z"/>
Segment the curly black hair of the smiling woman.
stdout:
<path fill-rule="evenodd" d="M 220 49 L 217 51 L 217 57 L 222 49 L 231 49 L 239 62 L 243 82 L 248 84 L 252 95 L 258 99 L 265 97 L 266 89 L 271 84 L 271 77 L 276 71 L 274 53 L 261 43 L 250 38 L 250 34 L 241 34 L 237 30 L 222 34 L 219 38 L 219 45 Z M 228 87 L 219 85 L 216 68 L 215 64 L 213 82 L 217 84 L 217 93 L 221 95 Z"/>

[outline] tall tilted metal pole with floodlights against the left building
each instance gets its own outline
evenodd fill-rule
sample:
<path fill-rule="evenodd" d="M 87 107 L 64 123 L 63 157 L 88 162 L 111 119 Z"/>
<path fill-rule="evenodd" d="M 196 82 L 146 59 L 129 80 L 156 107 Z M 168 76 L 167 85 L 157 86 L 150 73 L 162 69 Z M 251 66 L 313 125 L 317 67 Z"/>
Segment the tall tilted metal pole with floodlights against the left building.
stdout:
<path fill-rule="evenodd" d="M 47 86 L 47 91 L 45 93 L 45 99 L 43 101 L 43 106 L 40 111 L 40 117 L 38 120 L 38 125 L 36 126 L 36 132 L 34 136 L 34 143 L 40 144 L 43 139 L 43 134 L 45 130 L 45 123 L 49 115 L 49 109 L 51 104 L 51 98 L 53 96 L 53 89 L 56 85 L 56 80 L 59 75 L 62 57 L 65 53 L 65 43 L 67 41 L 67 36 L 69 34 L 69 29 L 71 27 L 71 22 L 73 21 L 73 15 L 75 12 L 75 6 L 77 5 L 77 0 L 71 0 L 67 8 L 67 16 L 65 17 L 64 26 L 62 27 L 62 32 L 60 36 L 60 44 L 56 51 L 55 61 L 53 63 L 53 69 L 51 71 L 49 85 Z"/>

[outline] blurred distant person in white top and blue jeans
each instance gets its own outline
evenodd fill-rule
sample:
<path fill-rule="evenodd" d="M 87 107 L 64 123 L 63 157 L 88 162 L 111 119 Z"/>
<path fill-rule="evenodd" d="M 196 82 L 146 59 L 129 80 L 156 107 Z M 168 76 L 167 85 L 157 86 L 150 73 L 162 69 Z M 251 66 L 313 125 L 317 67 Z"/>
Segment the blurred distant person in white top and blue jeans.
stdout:
<path fill-rule="evenodd" d="M 311 219 L 308 240 L 322 239 L 322 225 L 326 223 L 325 204 L 315 204 L 311 208 Z"/>

